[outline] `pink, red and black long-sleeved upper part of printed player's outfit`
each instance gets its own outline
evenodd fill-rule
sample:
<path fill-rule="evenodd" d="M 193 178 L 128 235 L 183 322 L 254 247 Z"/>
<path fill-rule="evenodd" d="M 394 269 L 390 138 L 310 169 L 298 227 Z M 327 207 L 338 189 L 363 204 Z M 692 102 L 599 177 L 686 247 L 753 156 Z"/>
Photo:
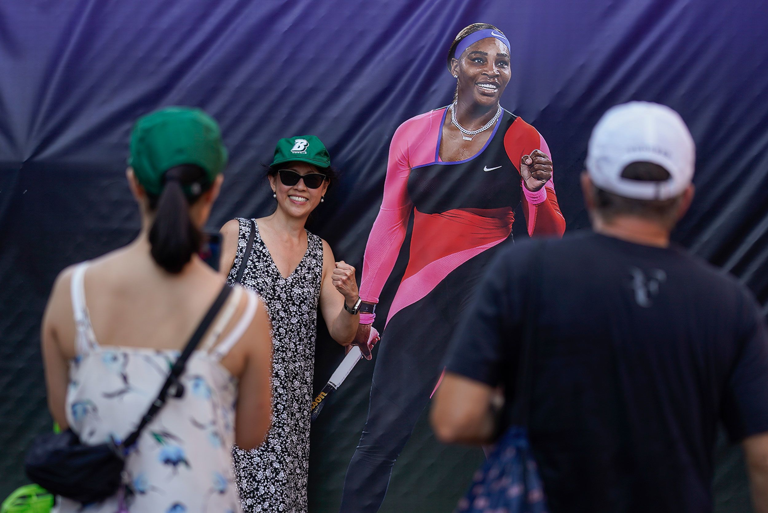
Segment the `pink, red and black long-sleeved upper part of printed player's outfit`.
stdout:
<path fill-rule="evenodd" d="M 389 319 L 422 299 L 462 263 L 501 243 L 522 204 L 531 236 L 562 236 L 565 220 L 554 183 L 531 192 L 521 184 L 520 161 L 536 149 L 551 157 L 544 137 L 507 111 L 478 154 L 465 161 L 439 157 L 447 108 L 401 124 L 389 145 L 384 198 L 366 245 L 360 296 L 370 303 L 395 266 L 413 213 L 409 263 Z"/>

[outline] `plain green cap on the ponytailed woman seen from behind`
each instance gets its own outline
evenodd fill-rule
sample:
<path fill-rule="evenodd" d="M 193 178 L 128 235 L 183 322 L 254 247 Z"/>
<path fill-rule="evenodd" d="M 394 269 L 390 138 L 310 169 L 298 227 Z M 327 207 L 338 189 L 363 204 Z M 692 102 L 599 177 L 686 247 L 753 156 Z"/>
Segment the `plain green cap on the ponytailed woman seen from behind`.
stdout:
<path fill-rule="evenodd" d="M 190 107 L 167 107 L 140 117 L 131 131 L 128 165 L 144 189 L 160 194 L 163 174 L 182 164 L 202 167 L 211 183 L 227 165 L 227 148 L 214 118 Z"/>

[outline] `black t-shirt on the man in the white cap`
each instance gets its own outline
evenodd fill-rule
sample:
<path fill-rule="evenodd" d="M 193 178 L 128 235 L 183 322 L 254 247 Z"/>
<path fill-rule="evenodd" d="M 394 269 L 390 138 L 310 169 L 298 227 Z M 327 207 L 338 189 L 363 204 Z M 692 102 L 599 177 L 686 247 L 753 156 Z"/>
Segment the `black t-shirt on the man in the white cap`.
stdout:
<path fill-rule="evenodd" d="M 521 243 L 489 267 L 447 369 L 513 399 L 523 316 L 537 323 L 529 433 L 550 510 L 711 511 L 717 421 L 734 441 L 768 431 L 768 336 L 750 293 L 676 247 Z"/>

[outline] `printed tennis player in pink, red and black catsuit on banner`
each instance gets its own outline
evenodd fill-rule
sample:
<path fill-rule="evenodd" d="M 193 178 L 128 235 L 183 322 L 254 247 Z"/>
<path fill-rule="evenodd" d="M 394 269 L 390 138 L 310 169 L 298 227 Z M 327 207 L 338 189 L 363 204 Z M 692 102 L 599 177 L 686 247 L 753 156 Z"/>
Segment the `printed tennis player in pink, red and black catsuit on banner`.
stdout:
<path fill-rule="evenodd" d="M 375 305 L 413 217 L 408 266 L 389 307 L 373 372 L 369 414 L 346 472 L 341 511 L 378 511 L 392 466 L 440 377 L 456 320 L 514 210 L 532 236 L 561 236 L 565 221 L 543 137 L 499 99 L 510 81 L 509 41 L 474 24 L 453 41 L 455 101 L 412 117 L 389 147 L 384 198 L 366 246 L 356 344 L 367 341 Z M 489 298 L 492 300 L 492 298 Z"/>

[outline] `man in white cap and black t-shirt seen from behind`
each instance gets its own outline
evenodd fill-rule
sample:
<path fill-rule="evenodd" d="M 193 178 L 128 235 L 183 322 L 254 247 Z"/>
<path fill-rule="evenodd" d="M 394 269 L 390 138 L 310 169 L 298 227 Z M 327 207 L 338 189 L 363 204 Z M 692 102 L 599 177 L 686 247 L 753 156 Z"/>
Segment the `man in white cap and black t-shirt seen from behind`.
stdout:
<path fill-rule="evenodd" d="M 552 513 L 712 511 L 718 422 L 743 442 L 768 511 L 765 319 L 737 280 L 670 244 L 695 160 L 672 109 L 611 108 L 581 176 L 593 231 L 506 248 L 456 333 L 435 433 L 504 432 L 492 405 L 498 389 L 519 399 L 527 333 L 528 434 Z"/>

